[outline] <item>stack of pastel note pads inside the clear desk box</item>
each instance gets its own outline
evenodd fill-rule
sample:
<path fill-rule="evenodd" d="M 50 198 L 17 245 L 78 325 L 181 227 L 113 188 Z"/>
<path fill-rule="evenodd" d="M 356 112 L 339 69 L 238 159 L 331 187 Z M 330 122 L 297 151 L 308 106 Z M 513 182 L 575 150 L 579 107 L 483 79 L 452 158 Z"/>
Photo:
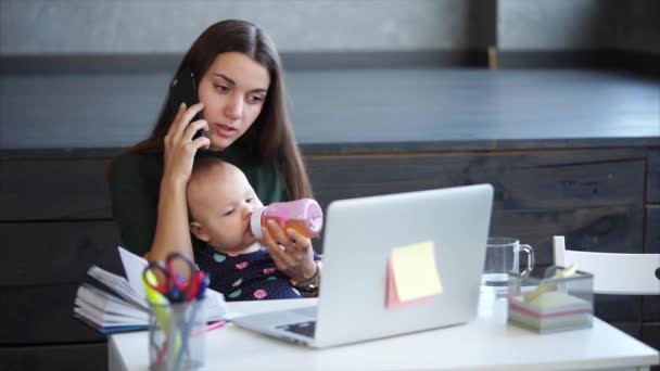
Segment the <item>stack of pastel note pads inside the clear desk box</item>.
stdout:
<path fill-rule="evenodd" d="M 541 333 L 592 327 L 592 303 L 560 291 L 519 294 L 508 302 L 509 323 Z"/>

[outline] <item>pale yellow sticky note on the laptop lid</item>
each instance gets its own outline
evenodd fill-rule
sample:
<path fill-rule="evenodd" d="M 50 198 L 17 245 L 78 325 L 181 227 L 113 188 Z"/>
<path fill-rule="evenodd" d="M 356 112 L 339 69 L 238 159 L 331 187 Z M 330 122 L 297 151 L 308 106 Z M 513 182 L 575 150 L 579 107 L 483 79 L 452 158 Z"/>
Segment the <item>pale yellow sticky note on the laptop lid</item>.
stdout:
<path fill-rule="evenodd" d="M 442 293 L 433 241 L 395 247 L 391 259 L 399 300 L 414 300 Z"/>

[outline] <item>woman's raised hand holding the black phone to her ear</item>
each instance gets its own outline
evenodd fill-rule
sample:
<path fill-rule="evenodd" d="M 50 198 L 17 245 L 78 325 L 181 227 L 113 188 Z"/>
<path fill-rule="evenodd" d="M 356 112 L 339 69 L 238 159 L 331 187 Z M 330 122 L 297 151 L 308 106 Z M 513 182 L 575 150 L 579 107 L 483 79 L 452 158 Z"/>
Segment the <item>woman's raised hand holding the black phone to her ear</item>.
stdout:
<path fill-rule="evenodd" d="M 196 114 L 204 110 L 203 103 L 193 104 L 189 108 L 181 103 L 177 115 L 165 136 L 165 170 L 164 181 L 186 186 L 192 172 L 194 155 L 200 149 L 208 149 L 211 141 L 206 137 L 193 139 L 194 133 L 202 129 L 208 130 L 208 123 L 204 119 L 190 121 Z"/>

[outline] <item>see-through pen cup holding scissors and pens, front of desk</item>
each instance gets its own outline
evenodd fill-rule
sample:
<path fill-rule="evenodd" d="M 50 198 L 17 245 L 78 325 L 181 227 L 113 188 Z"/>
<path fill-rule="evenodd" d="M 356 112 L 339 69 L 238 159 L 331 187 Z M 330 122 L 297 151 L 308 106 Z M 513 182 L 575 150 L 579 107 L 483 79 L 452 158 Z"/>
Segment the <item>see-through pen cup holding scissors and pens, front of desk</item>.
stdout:
<path fill-rule="evenodd" d="M 149 306 L 150 370 L 194 370 L 204 366 L 204 300 Z"/>

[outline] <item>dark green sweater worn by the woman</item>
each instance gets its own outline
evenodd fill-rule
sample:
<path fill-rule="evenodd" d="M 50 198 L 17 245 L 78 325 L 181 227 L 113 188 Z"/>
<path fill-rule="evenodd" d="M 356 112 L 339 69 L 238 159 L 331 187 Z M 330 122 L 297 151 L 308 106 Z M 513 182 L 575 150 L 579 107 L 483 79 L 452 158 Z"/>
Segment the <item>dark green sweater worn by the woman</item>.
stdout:
<path fill-rule="evenodd" d="M 224 152 L 198 152 L 218 156 L 238 166 L 264 205 L 284 200 L 284 181 L 274 164 L 249 161 L 236 146 Z M 110 166 L 112 212 L 119 227 L 123 246 L 143 255 L 151 248 L 156 229 L 163 154 L 126 153 Z"/>

